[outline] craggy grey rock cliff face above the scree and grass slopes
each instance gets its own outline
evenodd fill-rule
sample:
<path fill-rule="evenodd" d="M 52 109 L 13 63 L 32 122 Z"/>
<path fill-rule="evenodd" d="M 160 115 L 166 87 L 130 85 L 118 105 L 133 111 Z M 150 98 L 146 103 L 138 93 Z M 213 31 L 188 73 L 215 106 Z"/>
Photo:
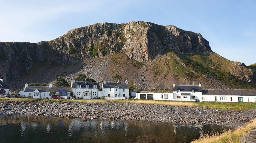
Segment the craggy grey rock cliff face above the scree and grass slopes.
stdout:
<path fill-rule="evenodd" d="M 129 58 L 148 62 L 168 51 L 182 54 L 212 52 L 201 34 L 150 22 L 97 23 L 75 28 L 47 42 L 0 42 L 0 75 L 19 78 L 36 62 L 67 65 L 123 51 Z"/>

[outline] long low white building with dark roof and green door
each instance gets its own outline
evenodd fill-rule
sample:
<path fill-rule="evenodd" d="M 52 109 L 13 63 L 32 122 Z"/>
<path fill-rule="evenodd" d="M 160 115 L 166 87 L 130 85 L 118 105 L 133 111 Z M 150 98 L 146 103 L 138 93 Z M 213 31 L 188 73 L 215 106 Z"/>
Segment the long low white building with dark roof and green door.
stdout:
<path fill-rule="evenodd" d="M 256 102 L 256 90 L 202 90 L 201 101 Z"/>

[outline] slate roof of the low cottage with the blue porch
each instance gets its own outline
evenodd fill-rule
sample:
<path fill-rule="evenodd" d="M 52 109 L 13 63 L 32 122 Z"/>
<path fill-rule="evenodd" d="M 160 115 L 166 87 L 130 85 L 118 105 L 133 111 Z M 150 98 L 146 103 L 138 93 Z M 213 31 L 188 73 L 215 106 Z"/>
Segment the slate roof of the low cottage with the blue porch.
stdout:
<path fill-rule="evenodd" d="M 66 90 L 67 92 L 72 92 L 72 87 L 26 87 L 25 92 L 34 92 L 35 90 L 39 90 L 40 92 L 59 92 L 61 90 Z"/>

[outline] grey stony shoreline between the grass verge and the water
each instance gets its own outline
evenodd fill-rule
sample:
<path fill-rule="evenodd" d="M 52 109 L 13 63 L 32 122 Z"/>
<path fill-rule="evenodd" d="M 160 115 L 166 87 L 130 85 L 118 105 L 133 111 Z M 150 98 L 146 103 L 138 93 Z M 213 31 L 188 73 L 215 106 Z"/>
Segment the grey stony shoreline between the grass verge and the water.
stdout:
<path fill-rule="evenodd" d="M 239 127 L 256 118 L 256 111 L 218 111 L 202 107 L 179 107 L 134 103 L 0 102 L 0 114 L 29 114 L 81 119 L 123 119 Z"/>

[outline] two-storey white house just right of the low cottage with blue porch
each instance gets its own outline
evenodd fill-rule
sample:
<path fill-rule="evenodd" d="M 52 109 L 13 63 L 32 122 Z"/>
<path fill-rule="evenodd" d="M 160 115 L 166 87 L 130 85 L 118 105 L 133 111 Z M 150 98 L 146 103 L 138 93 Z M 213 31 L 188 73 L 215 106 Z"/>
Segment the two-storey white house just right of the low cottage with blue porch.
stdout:
<path fill-rule="evenodd" d="M 71 82 L 71 87 L 73 93 L 79 99 L 93 99 L 98 98 L 99 92 L 99 81 L 89 82 L 89 81 L 73 81 Z"/>

